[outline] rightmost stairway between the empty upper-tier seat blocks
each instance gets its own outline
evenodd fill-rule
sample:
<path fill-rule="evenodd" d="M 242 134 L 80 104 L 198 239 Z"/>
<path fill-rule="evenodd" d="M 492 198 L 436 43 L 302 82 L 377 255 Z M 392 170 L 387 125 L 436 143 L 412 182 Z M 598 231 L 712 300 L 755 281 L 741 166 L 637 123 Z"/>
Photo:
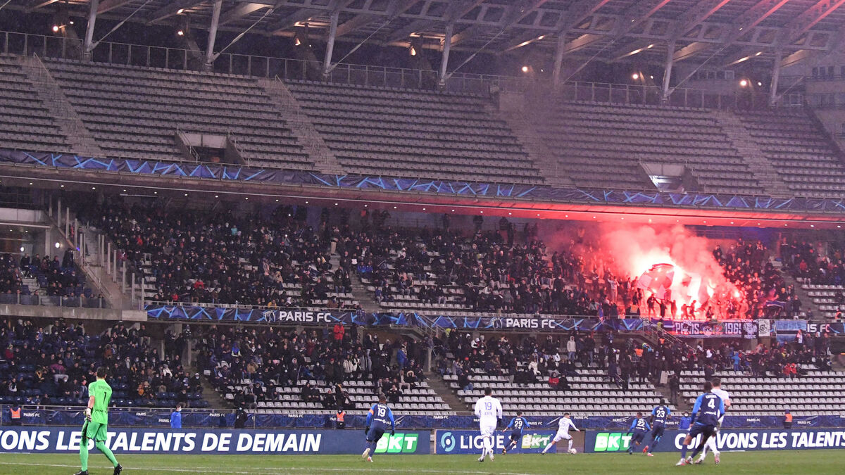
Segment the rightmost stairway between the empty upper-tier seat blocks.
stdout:
<path fill-rule="evenodd" d="M 739 155 L 744 158 L 761 187 L 774 197 L 793 196 L 793 192 L 775 171 L 776 167 L 766 158 L 763 150 L 760 150 L 760 146 L 751 137 L 748 128 L 745 128 L 739 117 L 728 111 L 713 111 L 711 115 L 722 128 L 722 132 L 728 136 L 733 148 L 738 150 Z"/>

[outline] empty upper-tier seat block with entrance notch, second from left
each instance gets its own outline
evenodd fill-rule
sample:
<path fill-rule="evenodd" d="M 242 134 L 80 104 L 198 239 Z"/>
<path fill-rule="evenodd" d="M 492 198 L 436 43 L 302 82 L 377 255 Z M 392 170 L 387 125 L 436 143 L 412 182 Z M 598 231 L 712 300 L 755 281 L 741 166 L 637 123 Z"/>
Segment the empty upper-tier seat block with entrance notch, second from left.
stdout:
<path fill-rule="evenodd" d="M 255 166 L 312 169 L 281 112 L 254 79 L 46 60 L 68 101 L 110 157 L 173 160 L 177 129 L 232 134 Z"/>

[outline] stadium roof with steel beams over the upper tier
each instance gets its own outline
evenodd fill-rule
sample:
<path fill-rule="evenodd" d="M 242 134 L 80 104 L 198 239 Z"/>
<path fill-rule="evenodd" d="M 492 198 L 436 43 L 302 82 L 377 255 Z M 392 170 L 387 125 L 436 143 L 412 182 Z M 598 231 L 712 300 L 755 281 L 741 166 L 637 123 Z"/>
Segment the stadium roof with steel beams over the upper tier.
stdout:
<path fill-rule="evenodd" d="M 728 66 L 753 57 L 784 64 L 832 51 L 845 35 L 845 0 L 221 0 L 220 29 L 327 38 L 333 12 L 337 40 L 439 49 L 447 25 L 452 47 L 476 52 L 539 48 L 616 61 L 663 63 L 696 58 Z M 67 4 L 86 16 L 91 0 L 13 0 L 37 11 Z M 211 24 L 215 0 L 100 0 L 101 18 L 193 28 Z"/>

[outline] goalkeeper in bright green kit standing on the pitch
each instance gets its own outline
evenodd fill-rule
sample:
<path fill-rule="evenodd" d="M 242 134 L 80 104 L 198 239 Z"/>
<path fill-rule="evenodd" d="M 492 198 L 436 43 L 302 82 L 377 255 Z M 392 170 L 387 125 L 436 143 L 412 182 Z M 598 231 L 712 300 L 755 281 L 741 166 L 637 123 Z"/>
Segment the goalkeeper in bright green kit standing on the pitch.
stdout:
<path fill-rule="evenodd" d="M 108 403 L 112 400 L 112 386 L 106 383 L 106 368 L 97 368 L 97 380 L 88 385 L 88 407 L 85 409 L 85 424 L 82 426 L 82 440 L 79 442 L 79 461 L 82 470 L 76 475 L 88 475 L 88 440 L 93 439 L 95 447 L 100 450 L 114 466 L 114 475 L 118 475 L 123 467 L 117 463 L 112 450 L 106 447 L 106 430 L 108 427 Z"/>

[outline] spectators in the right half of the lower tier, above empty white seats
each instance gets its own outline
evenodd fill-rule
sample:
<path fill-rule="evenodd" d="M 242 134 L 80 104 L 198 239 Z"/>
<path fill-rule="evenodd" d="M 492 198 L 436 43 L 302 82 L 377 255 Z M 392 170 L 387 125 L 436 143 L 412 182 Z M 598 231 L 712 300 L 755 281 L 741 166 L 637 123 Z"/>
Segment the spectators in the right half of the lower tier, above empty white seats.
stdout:
<path fill-rule="evenodd" d="M 634 382 L 666 384 L 673 391 L 673 403 L 677 403 L 681 370 L 703 370 L 706 379 L 711 379 L 722 370 L 799 378 L 807 365 L 831 369 L 830 336 L 826 333 L 799 331 L 792 342 L 775 341 L 770 347 L 759 344 L 752 350 L 742 349 L 741 341 L 690 347 L 666 335 L 660 336 L 655 346 L 636 344 L 631 338 L 614 345 L 613 339 L 612 332 L 573 331 L 538 340 L 521 334 L 486 338 L 450 331 L 436 339 L 434 347 L 439 355 L 438 373 L 455 374 L 463 390 L 473 389 L 472 374 L 505 375 L 519 385 L 543 382 L 553 389 L 568 390 L 567 377 L 591 368 L 603 369 L 608 381 L 622 390 L 629 390 Z"/>

